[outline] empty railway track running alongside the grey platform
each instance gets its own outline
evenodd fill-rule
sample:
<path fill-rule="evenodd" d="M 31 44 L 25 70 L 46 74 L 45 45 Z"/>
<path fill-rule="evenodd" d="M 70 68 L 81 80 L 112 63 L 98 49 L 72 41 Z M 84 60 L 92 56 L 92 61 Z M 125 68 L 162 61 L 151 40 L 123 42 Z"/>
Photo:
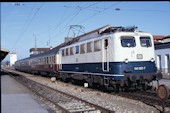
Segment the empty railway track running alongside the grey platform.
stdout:
<path fill-rule="evenodd" d="M 36 93 L 36 95 L 53 103 L 61 110 L 61 113 L 114 113 L 114 111 L 110 111 L 73 95 L 37 83 L 24 76 L 14 73 L 10 73 L 10 76 L 29 88 L 32 92 Z"/>

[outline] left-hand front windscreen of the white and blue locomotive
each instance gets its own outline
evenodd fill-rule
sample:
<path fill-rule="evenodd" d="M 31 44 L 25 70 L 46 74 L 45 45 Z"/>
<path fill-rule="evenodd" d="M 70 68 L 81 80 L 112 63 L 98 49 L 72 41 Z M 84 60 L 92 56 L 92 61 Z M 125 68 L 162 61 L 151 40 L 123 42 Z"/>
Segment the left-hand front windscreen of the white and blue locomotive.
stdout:
<path fill-rule="evenodd" d="M 135 47 L 135 38 L 130 36 L 121 37 L 121 45 L 122 47 Z"/>

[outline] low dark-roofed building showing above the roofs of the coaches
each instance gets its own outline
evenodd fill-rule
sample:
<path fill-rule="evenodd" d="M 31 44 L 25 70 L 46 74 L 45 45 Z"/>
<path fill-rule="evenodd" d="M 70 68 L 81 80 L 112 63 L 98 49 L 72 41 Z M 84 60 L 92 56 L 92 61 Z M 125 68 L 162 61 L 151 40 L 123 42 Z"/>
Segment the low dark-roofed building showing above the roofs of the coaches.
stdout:
<path fill-rule="evenodd" d="M 37 55 L 40 53 L 44 53 L 46 51 L 51 50 L 52 48 L 31 48 L 30 49 L 30 56 Z"/>

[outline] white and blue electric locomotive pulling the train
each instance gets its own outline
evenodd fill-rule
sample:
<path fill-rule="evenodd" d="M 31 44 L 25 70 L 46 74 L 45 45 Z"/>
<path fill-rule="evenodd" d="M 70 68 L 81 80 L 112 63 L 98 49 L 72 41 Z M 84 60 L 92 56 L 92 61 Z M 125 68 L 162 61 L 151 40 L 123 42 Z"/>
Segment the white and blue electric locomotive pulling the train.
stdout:
<path fill-rule="evenodd" d="M 83 80 L 90 86 L 147 89 L 160 75 L 155 66 L 152 35 L 136 31 L 136 27 L 107 26 L 60 48 L 59 54 L 59 77 Z"/>

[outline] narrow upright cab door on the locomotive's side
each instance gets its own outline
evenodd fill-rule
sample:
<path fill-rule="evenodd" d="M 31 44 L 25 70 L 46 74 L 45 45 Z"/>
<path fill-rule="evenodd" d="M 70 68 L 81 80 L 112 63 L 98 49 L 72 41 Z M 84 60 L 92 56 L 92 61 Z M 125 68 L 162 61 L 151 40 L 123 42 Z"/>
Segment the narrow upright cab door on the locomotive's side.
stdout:
<path fill-rule="evenodd" d="M 109 38 L 102 40 L 102 69 L 109 72 Z"/>

